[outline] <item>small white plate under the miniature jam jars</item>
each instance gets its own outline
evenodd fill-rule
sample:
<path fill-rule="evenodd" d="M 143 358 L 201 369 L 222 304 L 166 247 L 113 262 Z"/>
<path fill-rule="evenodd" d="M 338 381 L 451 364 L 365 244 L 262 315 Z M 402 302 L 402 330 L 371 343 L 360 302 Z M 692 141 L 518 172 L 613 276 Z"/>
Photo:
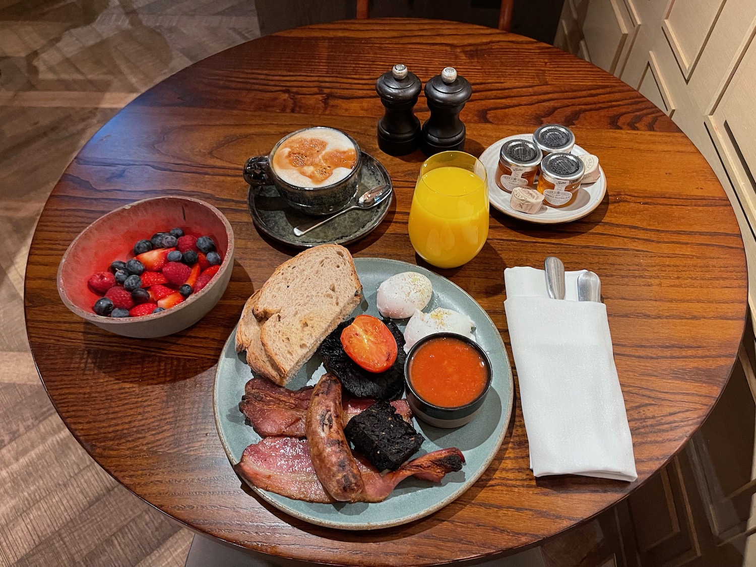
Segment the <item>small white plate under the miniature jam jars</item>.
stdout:
<path fill-rule="evenodd" d="M 522 218 L 523 221 L 536 222 L 542 225 L 555 225 L 559 222 L 576 221 L 578 218 L 584 217 L 599 206 L 606 193 L 606 175 L 604 175 L 604 170 L 601 169 L 601 166 L 599 166 L 600 175 L 598 180 L 594 183 L 581 184 L 578 189 L 578 197 L 568 206 L 556 209 L 544 205 L 541 206 L 541 210 L 532 215 L 514 210 L 510 206 L 512 194 L 500 189 L 496 184 L 496 181 L 494 181 L 494 178 L 496 177 L 496 168 L 499 165 L 499 152 L 501 151 L 501 147 L 504 142 L 515 139 L 532 141 L 533 136 L 530 134 L 517 134 L 502 138 L 488 146 L 480 156 L 480 160 L 485 166 L 485 171 L 488 174 L 488 201 L 494 206 L 494 208 L 499 209 L 505 215 L 510 215 L 514 218 Z M 572 153 L 576 156 L 581 156 L 588 152 L 578 146 L 578 144 L 575 144 Z"/>

